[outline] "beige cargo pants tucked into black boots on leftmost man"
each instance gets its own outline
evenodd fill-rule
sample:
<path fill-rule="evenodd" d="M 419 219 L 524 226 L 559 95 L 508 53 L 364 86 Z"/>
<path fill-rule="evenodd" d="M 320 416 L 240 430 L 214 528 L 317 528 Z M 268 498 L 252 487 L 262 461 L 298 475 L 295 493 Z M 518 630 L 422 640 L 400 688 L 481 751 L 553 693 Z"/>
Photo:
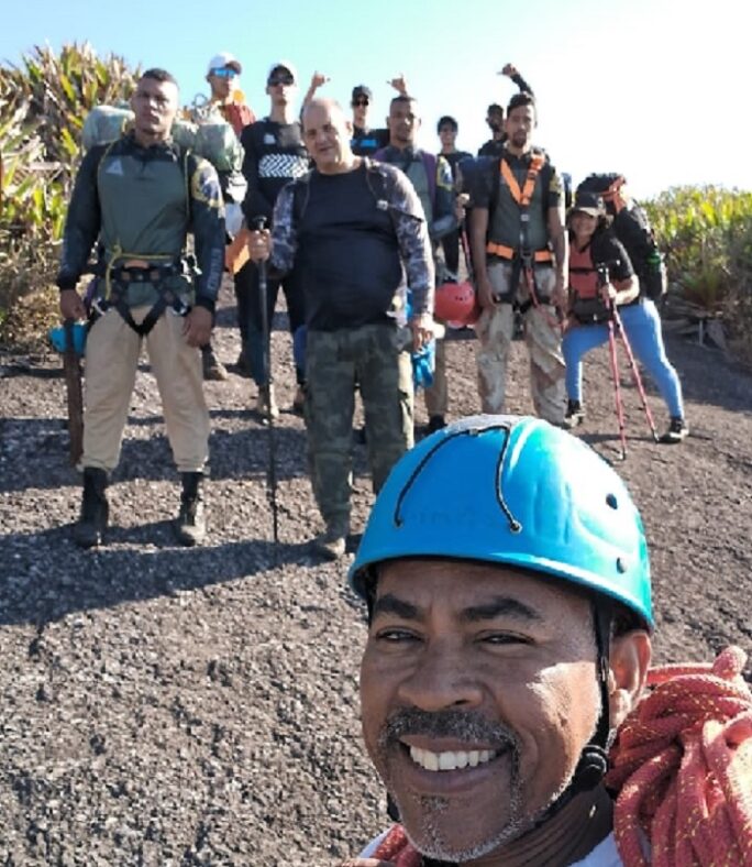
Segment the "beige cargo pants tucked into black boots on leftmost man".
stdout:
<path fill-rule="evenodd" d="M 132 308 L 133 319 L 143 321 L 150 309 Z M 162 397 L 167 437 L 181 473 L 203 470 L 209 458 L 201 353 L 186 343 L 184 325 L 185 319 L 168 309 L 143 338 Z M 141 341 L 113 307 L 89 331 L 81 467 L 110 472 L 118 465 Z"/>

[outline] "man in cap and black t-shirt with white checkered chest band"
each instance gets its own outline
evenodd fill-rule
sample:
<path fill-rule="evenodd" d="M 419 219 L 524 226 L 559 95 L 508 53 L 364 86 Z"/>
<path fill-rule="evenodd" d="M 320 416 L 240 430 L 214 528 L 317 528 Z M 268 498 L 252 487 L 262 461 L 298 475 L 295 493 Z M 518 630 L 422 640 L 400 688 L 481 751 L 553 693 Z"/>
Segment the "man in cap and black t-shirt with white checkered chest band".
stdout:
<path fill-rule="evenodd" d="M 243 216 L 250 228 L 258 218 L 269 221 L 279 190 L 296 177 L 308 172 L 310 160 L 302 143 L 300 123 L 295 120 L 292 99 L 297 89 L 297 73 L 287 61 L 273 64 L 266 79 L 266 92 L 272 100 L 272 111 L 263 120 L 243 130 L 241 143 L 245 151 L 243 175 L 248 190 L 243 202 Z M 243 359 L 258 386 L 256 408 L 262 415 L 270 411 L 277 416 L 274 392 L 268 385 L 265 366 L 265 347 L 262 328 L 262 308 L 258 292 L 258 270 L 248 262 L 237 274 L 237 319 L 243 340 Z M 240 284 L 240 285 L 239 285 Z M 267 283 L 267 314 L 272 322 L 277 295 L 281 286 L 287 299 L 290 333 L 303 323 L 302 293 L 294 275 L 287 279 Z M 303 402 L 303 371 L 296 369 L 298 391 L 294 408 L 301 409 Z"/>

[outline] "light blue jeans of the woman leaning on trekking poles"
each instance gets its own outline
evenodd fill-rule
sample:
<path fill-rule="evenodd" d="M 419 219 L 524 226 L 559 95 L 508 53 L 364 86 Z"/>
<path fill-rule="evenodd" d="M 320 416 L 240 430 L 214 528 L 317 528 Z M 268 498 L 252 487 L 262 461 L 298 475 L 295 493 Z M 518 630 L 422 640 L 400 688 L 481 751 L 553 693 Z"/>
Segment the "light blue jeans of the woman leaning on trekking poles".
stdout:
<path fill-rule="evenodd" d="M 634 358 L 644 365 L 657 385 L 661 397 L 668 407 L 668 415 L 684 418 L 682 384 L 666 358 L 661 332 L 661 317 L 655 304 L 644 298 L 641 304 L 619 308 L 627 340 Z M 582 402 L 583 356 L 608 340 L 608 325 L 576 326 L 564 336 L 562 352 L 566 362 L 566 395 Z"/>

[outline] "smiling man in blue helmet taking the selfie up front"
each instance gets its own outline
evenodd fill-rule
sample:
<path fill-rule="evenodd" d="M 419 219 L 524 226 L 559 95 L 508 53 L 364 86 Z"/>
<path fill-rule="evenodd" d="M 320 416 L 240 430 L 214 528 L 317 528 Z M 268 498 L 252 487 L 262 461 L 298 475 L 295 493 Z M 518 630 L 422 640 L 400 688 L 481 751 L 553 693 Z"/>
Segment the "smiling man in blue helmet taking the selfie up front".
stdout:
<path fill-rule="evenodd" d="M 545 421 L 451 425 L 392 470 L 351 582 L 364 737 L 399 822 L 351 864 L 621 865 L 606 749 L 652 612 L 617 474 Z"/>

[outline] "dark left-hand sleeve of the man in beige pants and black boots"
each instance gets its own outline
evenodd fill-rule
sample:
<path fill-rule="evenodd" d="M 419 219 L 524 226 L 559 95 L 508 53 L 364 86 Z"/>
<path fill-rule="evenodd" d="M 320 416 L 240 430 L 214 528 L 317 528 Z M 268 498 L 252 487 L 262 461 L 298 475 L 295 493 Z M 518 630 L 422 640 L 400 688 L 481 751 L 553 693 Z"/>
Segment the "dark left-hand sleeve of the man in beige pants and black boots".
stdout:
<path fill-rule="evenodd" d="M 63 254 L 55 283 L 63 289 L 75 289 L 91 248 L 99 234 L 101 212 L 97 193 L 97 171 L 104 147 L 92 147 L 84 157 L 76 175 L 63 234 Z"/>

